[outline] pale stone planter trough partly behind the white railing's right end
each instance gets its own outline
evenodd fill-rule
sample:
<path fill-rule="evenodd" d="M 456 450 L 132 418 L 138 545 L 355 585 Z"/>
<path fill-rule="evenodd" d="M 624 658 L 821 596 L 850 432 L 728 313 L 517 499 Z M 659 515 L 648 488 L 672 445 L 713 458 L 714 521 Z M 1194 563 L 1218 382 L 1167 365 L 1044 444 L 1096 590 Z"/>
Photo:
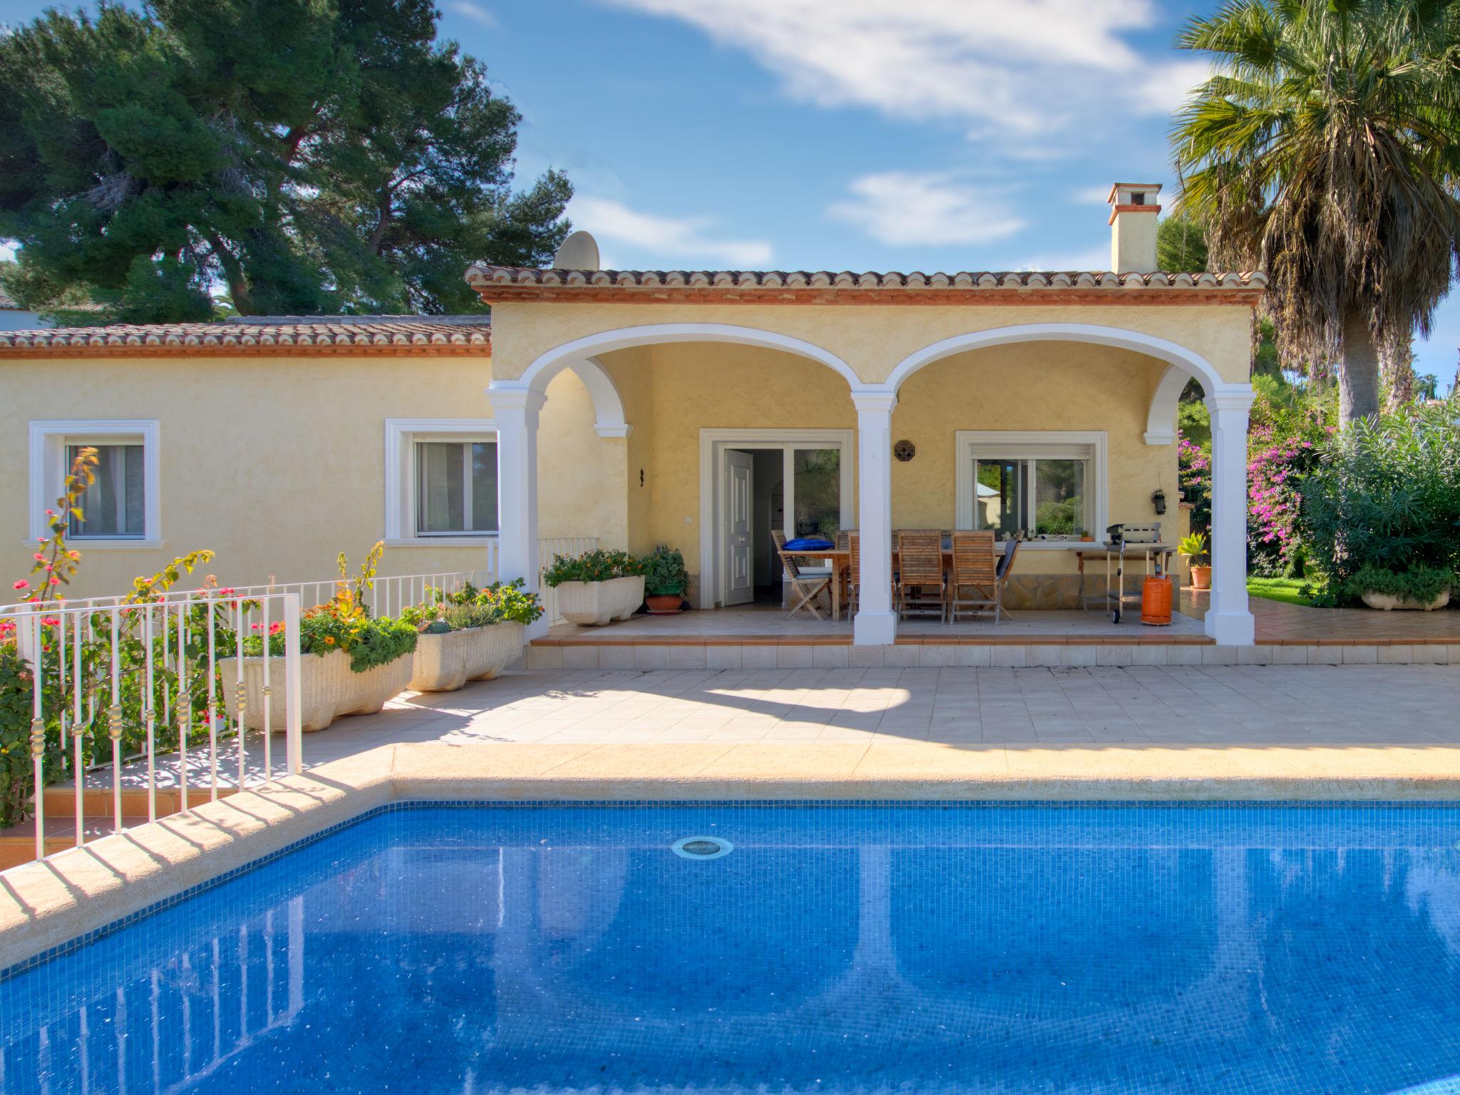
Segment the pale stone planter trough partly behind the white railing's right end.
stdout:
<path fill-rule="evenodd" d="M 285 729 L 285 677 L 283 658 L 269 658 L 269 727 L 283 733 Z M 350 656 L 342 650 L 328 654 L 304 654 L 299 658 L 299 711 L 305 730 L 323 730 L 340 715 L 368 715 L 385 707 L 406 691 L 410 682 L 412 658 L 409 654 L 384 666 L 366 669 L 364 673 L 350 670 Z M 238 680 L 238 658 L 223 658 L 218 663 L 223 677 L 223 704 L 228 717 L 238 717 L 235 683 Z M 264 660 L 244 658 L 244 688 L 248 710 L 244 721 L 250 730 L 264 729 Z"/>

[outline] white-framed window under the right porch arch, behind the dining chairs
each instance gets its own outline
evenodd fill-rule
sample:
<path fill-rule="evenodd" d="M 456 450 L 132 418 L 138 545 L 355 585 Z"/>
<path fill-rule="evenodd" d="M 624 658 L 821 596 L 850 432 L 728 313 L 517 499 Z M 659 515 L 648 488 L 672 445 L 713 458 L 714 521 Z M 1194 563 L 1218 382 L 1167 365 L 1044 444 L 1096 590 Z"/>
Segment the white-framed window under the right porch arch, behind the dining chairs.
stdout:
<path fill-rule="evenodd" d="M 1105 434 L 959 431 L 958 527 L 1077 540 L 1105 527 Z"/>

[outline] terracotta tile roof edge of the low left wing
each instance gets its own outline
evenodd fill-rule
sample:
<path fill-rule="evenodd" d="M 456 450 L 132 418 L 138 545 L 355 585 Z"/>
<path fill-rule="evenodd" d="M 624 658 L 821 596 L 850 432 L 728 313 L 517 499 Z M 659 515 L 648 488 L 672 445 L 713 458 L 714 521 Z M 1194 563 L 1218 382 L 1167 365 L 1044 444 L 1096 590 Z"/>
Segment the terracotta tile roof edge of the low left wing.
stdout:
<path fill-rule="evenodd" d="M 492 342 L 485 315 L 256 315 L 222 323 L 115 323 L 102 327 L 0 331 L 15 352 L 480 353 Z M 9 355 L 6 352 L 10 352 Z"/>

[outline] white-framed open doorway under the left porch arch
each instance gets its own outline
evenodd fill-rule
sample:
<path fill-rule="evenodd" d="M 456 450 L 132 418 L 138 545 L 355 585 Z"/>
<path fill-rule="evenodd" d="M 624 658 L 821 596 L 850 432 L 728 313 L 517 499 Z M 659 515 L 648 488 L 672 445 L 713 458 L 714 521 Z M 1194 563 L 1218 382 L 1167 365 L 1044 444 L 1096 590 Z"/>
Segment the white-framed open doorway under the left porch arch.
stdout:
<path fill-rule="evenodd" d="M 783 602 L 771 534 L 854 524 L 851 431 L 701 431 L 701 607 Z M 707 512 L 708 511 L 708 512 Z"/>

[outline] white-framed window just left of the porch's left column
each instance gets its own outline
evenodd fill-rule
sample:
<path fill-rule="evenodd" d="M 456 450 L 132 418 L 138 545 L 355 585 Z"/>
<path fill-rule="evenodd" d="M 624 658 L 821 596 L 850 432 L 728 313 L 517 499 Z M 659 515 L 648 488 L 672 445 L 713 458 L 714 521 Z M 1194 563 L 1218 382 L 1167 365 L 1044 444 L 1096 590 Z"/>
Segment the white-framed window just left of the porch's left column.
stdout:
<path fill-rule="evenodd" d="M 496 533 L 496 423 L 385 419 L 385 543 L 469 545 Z"/>

